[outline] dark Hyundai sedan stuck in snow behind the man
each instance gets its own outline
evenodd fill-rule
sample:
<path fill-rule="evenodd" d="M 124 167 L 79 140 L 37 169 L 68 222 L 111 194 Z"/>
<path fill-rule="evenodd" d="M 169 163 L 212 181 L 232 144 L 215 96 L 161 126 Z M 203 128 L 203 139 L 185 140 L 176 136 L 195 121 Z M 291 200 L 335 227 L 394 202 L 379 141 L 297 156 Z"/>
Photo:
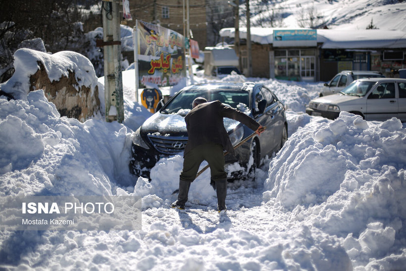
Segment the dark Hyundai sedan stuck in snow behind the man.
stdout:
<path fill-rule="evenodd" d="M 255 135 L 237 148 L 234 156 L 225 157 L 229 179 L 255 172 L 254 169 L 260 165 L 262 158 L 279 151 L 288 138 L 284 106 L 263 85 L 252 82 L 192 85 L 179 91 L 134 132 L 130 163 L 132 173 L 149 177 L 150 169 L 160 158 L 182 154 L 188 141 L 184 117 L 192 109 L 192 102 L 197 97 L 204 97 L 207 101 L 219 100 L 245 112 L 267 127 L 261 136 Z M 229 118 L 224 118 L 224 127 L 233 145 L 254 132 Z"/>

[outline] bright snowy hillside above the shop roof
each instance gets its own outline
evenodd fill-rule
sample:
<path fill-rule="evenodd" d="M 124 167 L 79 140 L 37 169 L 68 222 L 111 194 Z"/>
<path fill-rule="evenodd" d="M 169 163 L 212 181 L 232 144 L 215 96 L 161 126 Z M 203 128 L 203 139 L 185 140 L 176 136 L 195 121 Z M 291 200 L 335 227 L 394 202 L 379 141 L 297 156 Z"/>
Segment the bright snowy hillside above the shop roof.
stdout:
<path fill-rule="evenodd" d="M 240 8 L 245 9 L 245 5 Z M 406 2 L 401 0 L 254 0 L 250 1 L 250 10 L 257 14 L 252 17 L 252 26 L 262 21 L 263 27 L 270 27 L 269 17 L 274 15 L 273 27 L 298 28 L 301 23 L 308 24 L 312 14 L 318 17 L 314 19 L 316 25 L 330 29 L 366 29 L 372 20 L 378 29 L 406 32 Z"/>

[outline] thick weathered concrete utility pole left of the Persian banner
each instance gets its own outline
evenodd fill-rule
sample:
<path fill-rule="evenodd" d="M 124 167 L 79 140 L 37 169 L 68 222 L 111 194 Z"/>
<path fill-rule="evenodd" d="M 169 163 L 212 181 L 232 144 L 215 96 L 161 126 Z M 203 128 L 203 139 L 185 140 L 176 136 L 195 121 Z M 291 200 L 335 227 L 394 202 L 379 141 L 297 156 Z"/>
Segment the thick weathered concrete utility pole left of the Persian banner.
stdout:
<path fill-rule="evenodd" d="M 106 121 L 124 121 L 119 1 L 101 1 L 103 17 L 104 101 Z"/>

